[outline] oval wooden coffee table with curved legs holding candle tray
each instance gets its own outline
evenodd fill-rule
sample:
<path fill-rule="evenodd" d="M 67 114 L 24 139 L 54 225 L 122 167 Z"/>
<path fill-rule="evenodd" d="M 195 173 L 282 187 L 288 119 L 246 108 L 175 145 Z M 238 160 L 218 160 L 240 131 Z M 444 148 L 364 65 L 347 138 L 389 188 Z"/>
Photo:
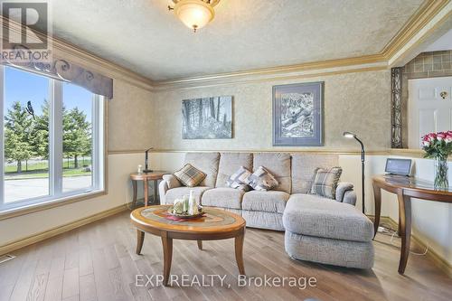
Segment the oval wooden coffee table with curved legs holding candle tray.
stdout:
<path fill-rule="evenodd" d="M 137 254 L 141 253 L 145 232 L 160 236 L 164 248 L 164 285 L 168 285 L 173 257 L 174 240 L 197 240 L 202 249 L 202 240 L 226 240 L 235 238 L 235 259 L 240 275 L 245 275 L 243 266 L 243 239 L 246 221 L 240 215 L 221 209 L 204 207 L 205 217 L 196 220 L 170 221 L 165 218 L 169 205 L 142 207 L 130 213 L 137 226 Z"/>

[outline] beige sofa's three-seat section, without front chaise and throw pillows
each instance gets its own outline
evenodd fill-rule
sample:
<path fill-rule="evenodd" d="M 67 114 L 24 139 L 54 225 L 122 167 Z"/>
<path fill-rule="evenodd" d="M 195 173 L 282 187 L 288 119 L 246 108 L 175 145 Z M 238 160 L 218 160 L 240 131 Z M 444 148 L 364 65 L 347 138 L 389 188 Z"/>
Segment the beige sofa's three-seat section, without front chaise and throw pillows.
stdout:
<path fill-rule="evenodd" d="M 338 165 L 337 155 L 290 155 L 287 153 L 187 153 L 184 164 L 190 163 L 207 174 L 198 187 L 182 186 L 173 175 L 165 175 L 160 183 L 162 203 L 173 203 L 193 189 L 202 205 L 225 208 L 237 212 L 247 221 L 248 227 L 284 230 L 283 212 L 291 194 L 306 194 L 317 167 Z M 268 192 L 240 190 L 226 187 L 226 180 L 240 166 L 254 171 L 260 165 L 275 175 L 278 186 Z M 173 185 L 171 186 L 171 184 Z M 170 189 L 171 187 L 171 189 Z M 340 183 L 336 201 L 353 204 L 356 195 L 351 183 Z"/>

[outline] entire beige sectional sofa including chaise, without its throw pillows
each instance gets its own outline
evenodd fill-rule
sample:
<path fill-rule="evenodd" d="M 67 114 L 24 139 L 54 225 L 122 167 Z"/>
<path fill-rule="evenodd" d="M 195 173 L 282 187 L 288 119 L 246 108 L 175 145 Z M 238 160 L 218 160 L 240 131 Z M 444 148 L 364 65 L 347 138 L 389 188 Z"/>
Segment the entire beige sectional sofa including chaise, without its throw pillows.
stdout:
<path fill-rule="evenodd" d="M 285 231 L 285 248 L 293 259 L 347 268 L 372 268 L 373 225 L 354 205 L 352 183 L 339 183 L 335 200 L 310 194 L 315 169 L 338 165 L 337 155 L 288 153 L 187 153 L 206 177 L 196 187 L 183 186 L 173 174 L 159 184 L 160 202 L 173 203 L 193 190 L 203 206 L 235 212 L 247 227 Z M 254 172 L 264 166 L 278 180 L 270 191 L 244 192 L 226 181 L 240 166 Z"/>

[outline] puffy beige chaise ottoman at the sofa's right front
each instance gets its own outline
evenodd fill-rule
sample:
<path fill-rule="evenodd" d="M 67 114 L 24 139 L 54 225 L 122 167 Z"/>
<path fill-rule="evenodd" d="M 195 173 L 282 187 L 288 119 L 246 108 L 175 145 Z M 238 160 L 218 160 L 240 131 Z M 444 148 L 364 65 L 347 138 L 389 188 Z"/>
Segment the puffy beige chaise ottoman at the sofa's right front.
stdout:
<path fill-rule="evenodd" d="M 283 214 L 292 259 L 346 268 L 372 268 L 373 224 L 353 205 L 313 194 L 292 194 Z"/>

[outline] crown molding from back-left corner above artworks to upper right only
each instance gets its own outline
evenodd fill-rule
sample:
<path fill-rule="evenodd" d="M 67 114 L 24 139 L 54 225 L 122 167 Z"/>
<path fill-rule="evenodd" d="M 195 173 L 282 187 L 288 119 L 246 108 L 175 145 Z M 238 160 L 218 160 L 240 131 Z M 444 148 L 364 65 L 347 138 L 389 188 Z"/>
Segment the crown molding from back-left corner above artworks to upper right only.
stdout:
<path fill-rule="evenodd" d="M 315 74 L 346 73 L 353 71 L 353 69 L 356 71 L 364 71 L 367 69 L 372 71 L 376 66 L 381 67 L 381 69 L 383 69 L 383 66 L 386 69 L 389 69 L 389 61 L 392 56 L 400 52 L 406 43 L 410 42 L 410 40 L 429 24 L 450 2 L 451 0 L 424 1 L 400 31 L 383 47 L 381 52 L 375 54 L 329 61 L 306 62 L 250 71 L 186 77 L 175 80 L 155 80 L 153 81 L 153 85 L 156 90 L 193 89 L 255 80 L 284 80 L 294 77 L 312 77 L 315 76 Z"/>

